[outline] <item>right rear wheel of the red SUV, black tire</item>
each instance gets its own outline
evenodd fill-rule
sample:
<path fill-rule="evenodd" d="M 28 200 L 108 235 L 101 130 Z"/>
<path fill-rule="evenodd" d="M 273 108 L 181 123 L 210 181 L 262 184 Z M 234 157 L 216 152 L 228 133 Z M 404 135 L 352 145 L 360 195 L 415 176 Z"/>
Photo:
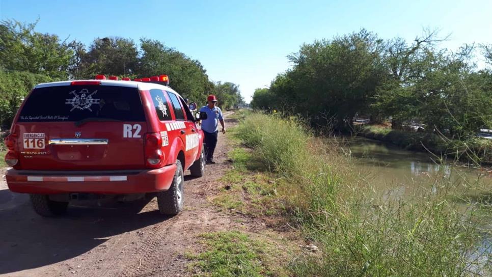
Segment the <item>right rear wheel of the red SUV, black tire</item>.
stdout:
<path fill-rule="evenodd" d="M 176 215 L 183 209 L 184 174 L 181 161 L 176 160 L 176 173 L 171 187 L 157 193 L 157 205 L 161 214 Z"/>

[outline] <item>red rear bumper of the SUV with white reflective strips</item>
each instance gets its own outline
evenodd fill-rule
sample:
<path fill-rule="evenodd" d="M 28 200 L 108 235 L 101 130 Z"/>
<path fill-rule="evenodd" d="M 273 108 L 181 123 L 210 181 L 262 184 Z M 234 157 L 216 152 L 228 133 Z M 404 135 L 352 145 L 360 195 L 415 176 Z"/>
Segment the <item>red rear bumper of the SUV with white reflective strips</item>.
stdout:
<path fill-rule="evenodd" d="M 175 172 L 176 164 L 155 170 L 118 172 L 57 172 L 11 169 L 7 171 L 6 178 L 9 189 L 20 193 L 125 194 L 168 190 Z"/>

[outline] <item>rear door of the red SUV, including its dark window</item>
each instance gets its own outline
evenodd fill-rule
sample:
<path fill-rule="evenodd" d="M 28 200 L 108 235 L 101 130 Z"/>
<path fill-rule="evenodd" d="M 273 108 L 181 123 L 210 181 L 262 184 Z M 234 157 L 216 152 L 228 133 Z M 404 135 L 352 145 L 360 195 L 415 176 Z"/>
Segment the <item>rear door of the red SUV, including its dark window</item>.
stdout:
<path fill-rule="evenodd" d="M 145 168 L 148 126 L 138 88 L 74 81 L 41 86 L 15 124 L 23 170 Z"/>

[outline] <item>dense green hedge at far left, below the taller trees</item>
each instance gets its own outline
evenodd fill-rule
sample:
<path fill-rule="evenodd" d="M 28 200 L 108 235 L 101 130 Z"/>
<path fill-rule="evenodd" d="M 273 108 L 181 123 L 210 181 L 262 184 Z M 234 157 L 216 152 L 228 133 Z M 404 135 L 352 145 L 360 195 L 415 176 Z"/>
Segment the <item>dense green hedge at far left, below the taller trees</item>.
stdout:
<path fill-rule="evenodd" d="M 46 75 L 0 69 L 0 126 L 8 126 L 25 95 L 42 82 L 52 79 Z"/>

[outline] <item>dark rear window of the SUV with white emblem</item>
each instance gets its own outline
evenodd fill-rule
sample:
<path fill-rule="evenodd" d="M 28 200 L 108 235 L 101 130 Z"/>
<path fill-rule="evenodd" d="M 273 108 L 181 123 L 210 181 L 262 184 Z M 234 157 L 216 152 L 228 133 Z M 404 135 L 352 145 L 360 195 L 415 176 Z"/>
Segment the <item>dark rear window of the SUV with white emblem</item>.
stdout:
<path fill-rule="evenodd" d="M 38 88 L 26 100 L 18 121 L 62 122 L 86 118 L 145 121 L 139 90 L 116 86 Z"/>

